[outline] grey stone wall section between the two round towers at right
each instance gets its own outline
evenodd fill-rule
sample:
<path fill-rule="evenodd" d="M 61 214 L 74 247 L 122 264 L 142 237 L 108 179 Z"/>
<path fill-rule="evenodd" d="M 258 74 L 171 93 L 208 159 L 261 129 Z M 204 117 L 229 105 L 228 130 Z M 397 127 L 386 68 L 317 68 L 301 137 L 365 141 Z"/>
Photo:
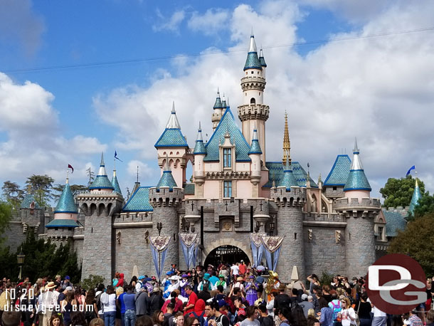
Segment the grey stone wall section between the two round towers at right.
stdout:
<path fill-rule="evenodd" d="M 305 222 L 304 225 L 306 275 L 315 273 L 321 276 L 322 272 L 346 274 L 346 223 Z M 312 230 L 312 240 L 309 240 L 309 230 Z M 337 230 L 342 231 L 339 243 L 336 242 Z"/>

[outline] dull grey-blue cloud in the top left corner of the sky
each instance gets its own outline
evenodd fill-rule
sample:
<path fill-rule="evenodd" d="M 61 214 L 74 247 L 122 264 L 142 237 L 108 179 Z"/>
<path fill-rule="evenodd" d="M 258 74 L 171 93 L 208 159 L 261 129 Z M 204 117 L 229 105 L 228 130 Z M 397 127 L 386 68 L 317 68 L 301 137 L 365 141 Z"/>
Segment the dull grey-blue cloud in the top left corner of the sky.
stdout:
<path fill-rule="evenodd" d="M 18 39 L 26 54 L 31 56 L 41 46 L 44 31 L 43 19 L 33 12 L 31 0 L 0 1 L 0 38 Z"/>

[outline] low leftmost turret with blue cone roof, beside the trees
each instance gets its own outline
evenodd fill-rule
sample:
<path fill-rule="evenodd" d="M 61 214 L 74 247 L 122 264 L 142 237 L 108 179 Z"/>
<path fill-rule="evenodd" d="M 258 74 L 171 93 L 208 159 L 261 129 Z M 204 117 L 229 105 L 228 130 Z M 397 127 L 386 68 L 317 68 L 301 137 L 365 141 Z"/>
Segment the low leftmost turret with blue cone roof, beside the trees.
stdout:
<path fill-rule="evenodd" d="M 55 206 L 54 219 L 46 225 L 48 238 L 61 242 L 68 241 L 68 238 L 74 235 L 74 228 L 78 227 L 77 217 L 77 205 L 69 186 L 69 180 L 66 178 L 62 194 Z"/>

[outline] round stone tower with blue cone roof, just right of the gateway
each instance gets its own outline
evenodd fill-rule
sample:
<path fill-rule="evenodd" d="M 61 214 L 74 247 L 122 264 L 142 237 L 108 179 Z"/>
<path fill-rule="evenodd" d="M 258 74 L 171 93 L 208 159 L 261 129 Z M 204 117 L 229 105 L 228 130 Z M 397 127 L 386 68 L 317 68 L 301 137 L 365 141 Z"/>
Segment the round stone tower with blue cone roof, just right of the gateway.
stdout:
<path fill-rule="evenodd" d="M 306 189 L 298 186 L 289 162 L 285 165 L 280 184 L 271 189 L 270 196 L 279 209 L 277 235 L 285 236 L 280 250 L 281 253 L 285 253 L 285 259 L 279 260 L 277 273 L 280 280 L 288 282 L 293 266 L 297 266 L 302 279 L 305 277 L 302 208 L 306 204 Z"/>

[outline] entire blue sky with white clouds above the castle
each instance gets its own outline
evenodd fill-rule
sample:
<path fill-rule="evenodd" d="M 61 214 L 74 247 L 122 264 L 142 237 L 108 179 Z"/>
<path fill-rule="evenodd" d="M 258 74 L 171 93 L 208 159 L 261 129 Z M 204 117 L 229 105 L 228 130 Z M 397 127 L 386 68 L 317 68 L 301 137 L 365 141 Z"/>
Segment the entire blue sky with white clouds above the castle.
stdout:
<path fill-rule="evenodd" d="M 85 184 L 101 152 L 111 173 L 116 149 L 122 191 L 137 166 L 156 184 L 172 101 L 191 147 L 199 120 L 211 137 L 217 88 L 236 113 L 253 27 L 268 160 L 287 110 L 292 159 L 314 179 L 357 137 L 373 196 L 413 164 L 432 192 L 433 21 L 423 0 L 0 1 L 0 182 L 63 183 L 72 164 Z"/>

